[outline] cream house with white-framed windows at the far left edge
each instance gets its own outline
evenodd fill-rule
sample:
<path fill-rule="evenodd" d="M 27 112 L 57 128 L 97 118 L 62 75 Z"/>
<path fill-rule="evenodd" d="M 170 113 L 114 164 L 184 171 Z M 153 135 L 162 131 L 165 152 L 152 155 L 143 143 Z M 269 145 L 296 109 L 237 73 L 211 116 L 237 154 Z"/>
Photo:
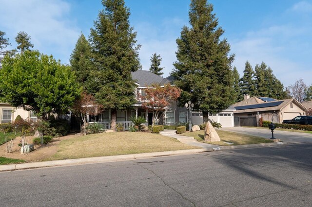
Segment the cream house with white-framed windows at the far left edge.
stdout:
<path fill-rule="evenodd" d="M 26 111 L 22 108 L 13 107 L 10 104 L 0 103 L 0 123 L 12 122 L 20 115 L 22 119 L 30 118 L 37 120 L 37 117 L 32 111 Z"/>

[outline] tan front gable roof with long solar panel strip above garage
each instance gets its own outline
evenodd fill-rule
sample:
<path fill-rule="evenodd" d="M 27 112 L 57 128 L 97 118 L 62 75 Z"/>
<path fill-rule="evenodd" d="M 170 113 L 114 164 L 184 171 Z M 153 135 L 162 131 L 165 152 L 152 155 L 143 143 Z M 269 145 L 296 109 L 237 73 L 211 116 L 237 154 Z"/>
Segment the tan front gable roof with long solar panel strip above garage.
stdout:
<path fill-rule="evenodd" d="M 245 100 L 246 101 L 246 100 Z M 281 101 L 274 101 L 274 102 L 265 102 L 261 104 L 250 104 L 250 105 L 242 105 L 242 106 L 234 106 L 236 109 L 235 113 L 248 113 L 248 112 L 261 112 L 261 111 L 279 111 L 286 107 L 290 103 L 294 103 L 298 105 L 300 108 L 302 108 L 304 111 L 306 111 L 306 107 L 304 107 L 302 104 L 297 102 L 295 99 L 285 99 Z"/>

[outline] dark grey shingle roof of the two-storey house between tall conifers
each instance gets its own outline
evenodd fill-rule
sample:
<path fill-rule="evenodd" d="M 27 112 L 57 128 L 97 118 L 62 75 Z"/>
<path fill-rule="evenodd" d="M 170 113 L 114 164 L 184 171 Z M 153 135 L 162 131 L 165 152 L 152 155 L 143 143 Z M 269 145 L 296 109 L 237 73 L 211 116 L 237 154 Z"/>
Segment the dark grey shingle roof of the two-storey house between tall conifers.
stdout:
<path fill-rule="evenodd" d="M 140 86 L 151 86 L 152 84 L 160 84 L 165 78 L 156 75 L 149 70 L 137 70 L 131 73 L 132 79 Z"/>

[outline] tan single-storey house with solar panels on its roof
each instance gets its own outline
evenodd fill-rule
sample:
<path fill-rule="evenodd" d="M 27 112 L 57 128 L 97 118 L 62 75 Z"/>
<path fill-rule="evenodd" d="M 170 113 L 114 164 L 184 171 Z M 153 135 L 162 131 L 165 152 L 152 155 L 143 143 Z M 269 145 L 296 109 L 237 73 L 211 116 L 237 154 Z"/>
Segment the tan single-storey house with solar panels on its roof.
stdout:
<path fill-rule="evenodd" d="M 260 117 L 265 121 L 282 123 L 296 116 L 305 115 L 308 109 L 295 99 L 276 100 L 268 97 L 244 96 L 244 100 L 232 105 L 234 117 Z"/>

